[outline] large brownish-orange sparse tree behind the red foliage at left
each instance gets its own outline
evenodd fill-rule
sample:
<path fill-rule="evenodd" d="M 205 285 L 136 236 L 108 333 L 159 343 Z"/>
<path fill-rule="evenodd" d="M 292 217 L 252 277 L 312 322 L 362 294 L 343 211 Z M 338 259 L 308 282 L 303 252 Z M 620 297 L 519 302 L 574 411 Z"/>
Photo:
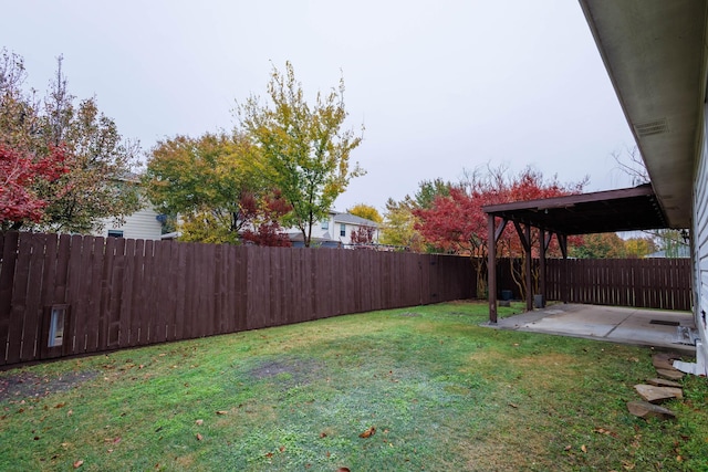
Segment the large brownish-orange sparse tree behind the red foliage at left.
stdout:
<path fill-rule="evenodd" d="M 38 161 L 61 149 L 66 170 L 55 179 L 25 181 L 27 190 L 43 201 L 42 217 L 12 227 L 86 233 L 138 209 L 131 169 L 139 148 L 123 139 L 95 98 L 76 105 L 61 67 L 60 56 L 55 80 L 39 101 L 24 91 L 22 59 L 7 50 L 0 54 L 0 143 Z"/>

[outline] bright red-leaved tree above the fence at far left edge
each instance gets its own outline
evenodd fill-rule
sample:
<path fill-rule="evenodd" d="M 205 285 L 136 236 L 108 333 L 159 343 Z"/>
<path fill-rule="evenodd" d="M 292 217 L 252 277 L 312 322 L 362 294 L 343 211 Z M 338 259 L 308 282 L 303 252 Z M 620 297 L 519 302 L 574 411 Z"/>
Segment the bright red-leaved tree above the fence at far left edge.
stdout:
<path fill-rule="evenodd" d="M 52 147 L 46 156 L 12 149 L 0 144 L 0 229 L 17 229 L 24 222 L 39 222 L 50 203 L 38 189 L 51 185 L 69 171 L 66 155 Z M 58 189 L 58 193 L 63 190 Z"/>

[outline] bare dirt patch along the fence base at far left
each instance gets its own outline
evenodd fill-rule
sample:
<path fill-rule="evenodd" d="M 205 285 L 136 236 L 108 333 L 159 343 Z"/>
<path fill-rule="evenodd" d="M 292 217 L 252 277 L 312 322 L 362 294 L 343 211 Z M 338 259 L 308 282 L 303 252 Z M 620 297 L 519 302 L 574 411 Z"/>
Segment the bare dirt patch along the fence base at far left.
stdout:
<path fill-rule="evenodd" d="M 98 375 L 95 370 L 66 373 L 60 377 L 17 373 L 0 377 L 0 401 L 40 398 L 66 391 Z"/>

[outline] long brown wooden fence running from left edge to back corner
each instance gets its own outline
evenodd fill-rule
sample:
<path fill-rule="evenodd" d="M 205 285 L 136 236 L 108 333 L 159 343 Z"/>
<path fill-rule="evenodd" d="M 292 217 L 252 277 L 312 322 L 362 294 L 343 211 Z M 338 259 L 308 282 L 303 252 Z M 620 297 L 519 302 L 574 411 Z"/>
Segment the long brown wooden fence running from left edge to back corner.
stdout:
<path fill-rule="evenodd" d="M 468 258 L 0 234 L 0 364 L 473 296 Z"/>

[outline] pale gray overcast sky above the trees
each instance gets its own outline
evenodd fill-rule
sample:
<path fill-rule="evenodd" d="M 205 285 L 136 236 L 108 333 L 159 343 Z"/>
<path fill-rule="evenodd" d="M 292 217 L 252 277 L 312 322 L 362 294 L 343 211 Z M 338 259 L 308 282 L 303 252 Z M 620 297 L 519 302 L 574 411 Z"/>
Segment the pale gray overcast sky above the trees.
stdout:
<path fill-rule="evenodd" d="M 424 179 L 527 165 L 589 191 L 628 187 L 611 153 L 634 140 L 580 4 L 518 1 L 6 1 L 0 46 L 42 93 L 63 54 L 70 92 L 96 96 L 149 150 L 231 129 L 291 61 L 314 97 L 343 74 L 352 154 L 367 175 L 336 201 L 384 210 Z"/>

